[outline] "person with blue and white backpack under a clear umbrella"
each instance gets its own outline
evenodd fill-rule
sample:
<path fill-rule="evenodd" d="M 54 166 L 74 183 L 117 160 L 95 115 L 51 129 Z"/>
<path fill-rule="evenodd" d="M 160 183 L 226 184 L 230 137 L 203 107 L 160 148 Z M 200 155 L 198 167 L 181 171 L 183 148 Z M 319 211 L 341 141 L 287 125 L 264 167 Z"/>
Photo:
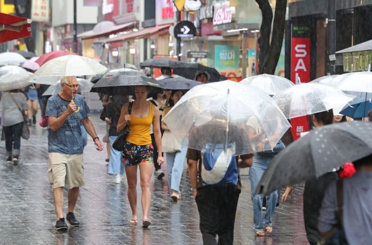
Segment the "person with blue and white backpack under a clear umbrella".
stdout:
<path fill-rule="evenodd" d="M 228 159 L 229 164 L 226 164 L 226 160 L 217 163 L 216 159 L 223 154 L 224 143 L 226 146 L 226 130 L 216 130 L 216 128 L 226 129 L 226 122 L 214 118 L 193 128 L 189 133 L 189 143 L 198 139 L 211 139 L 211 137 L 216 140 L 205 144 L 202 150 L 188 147 L 186 158 L 191 191 L 199 211 L 203 244 L 217 245 L 216 235 L 218 235 L 218 244 L 232 245 L 235 215 L 242 189 L 238 167 L 252 166 L 254 154 L 240 156 L 231 154 L 232 157 Z M 243 128 L 237 129 L 235 125 L 229 125 L 228 132 L 228 137 L 231 139 L 229 142 L 232 144 L 228 144 L 227 152 L 232 153 L 231 145 L 235 146 L 235 152 L 244 152 L 252 148 L 247 139 L 242 139 L 247 137 Z M 229 167 L 227 169 L 223 167 L 225 171 L 208 171 L 211 166 L 212 170 L 215 169 L 216 165 L 218 165 L 217 167 L 221 167 L 221 165 Z"/>

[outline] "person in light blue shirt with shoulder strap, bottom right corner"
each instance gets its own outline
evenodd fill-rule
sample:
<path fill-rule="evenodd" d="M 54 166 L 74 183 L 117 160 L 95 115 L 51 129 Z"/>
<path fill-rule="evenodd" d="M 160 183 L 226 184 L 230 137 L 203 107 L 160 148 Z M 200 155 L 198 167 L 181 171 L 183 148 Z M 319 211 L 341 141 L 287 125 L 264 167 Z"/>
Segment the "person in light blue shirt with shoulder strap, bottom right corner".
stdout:
<path fill-rule="evenodd" d="M 317 226 L 321 244 L 371 244 L 372 155 L 354 161 L 354 167 L 352 177 L 332 181 L 325 191 Z"/>

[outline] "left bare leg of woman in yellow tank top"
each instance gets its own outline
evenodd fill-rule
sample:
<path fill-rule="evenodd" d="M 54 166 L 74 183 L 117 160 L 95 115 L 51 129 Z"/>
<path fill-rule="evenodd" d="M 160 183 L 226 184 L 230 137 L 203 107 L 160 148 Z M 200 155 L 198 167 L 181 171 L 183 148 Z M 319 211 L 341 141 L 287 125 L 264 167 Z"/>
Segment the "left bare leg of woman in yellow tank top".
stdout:
<path fill-rule="evenodd" d="M 137 214 L 137 165 L 125 166 L 126 180 L 128 182 L 128 200 L 132 209 L 132 219 L 138 219 Z M 133 222 L 134 224 L 134 222 Z"/>

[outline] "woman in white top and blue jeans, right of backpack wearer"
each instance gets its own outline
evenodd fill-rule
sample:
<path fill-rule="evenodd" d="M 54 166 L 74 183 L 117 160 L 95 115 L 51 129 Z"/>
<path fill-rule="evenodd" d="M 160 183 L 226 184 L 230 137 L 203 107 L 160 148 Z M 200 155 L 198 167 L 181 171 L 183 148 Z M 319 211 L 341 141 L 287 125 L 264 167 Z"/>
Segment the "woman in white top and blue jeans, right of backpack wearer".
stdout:
<path fill-rule="evenodd" d="M 247 122 L 248 135 L 252 142 L 255 144 L 255 149 L 258 152 L 253 156 L 253 166 L 249 168 L 249 180 L 250 180 L 250 191 L 251 199 L 253 204 L 253 222 L 254 231 L 256 236 L 264 236 L 262 223 L 262 201 L 263 195 L 254 195 L 259 181 L 261 180 L 264 172 L 269 166 L 275 155 L 285 148 L 284 144 L 280 140 L 274 149 L 264 151 L 265 144 L 268 144 L 268 139 L 265 138 L 265 134 L 268 134 L 268 129 L 265 129 L 265 123 L 259 123 L 255 116 L 249 118 Z M 271 217 L 275 212 L 276 202 L 278 199 L 278 192 L 272 192 L 266 197 L 266 213 L 264 217 L 265 231 L 268 233 L 272 232 L 272 220 Z"/>

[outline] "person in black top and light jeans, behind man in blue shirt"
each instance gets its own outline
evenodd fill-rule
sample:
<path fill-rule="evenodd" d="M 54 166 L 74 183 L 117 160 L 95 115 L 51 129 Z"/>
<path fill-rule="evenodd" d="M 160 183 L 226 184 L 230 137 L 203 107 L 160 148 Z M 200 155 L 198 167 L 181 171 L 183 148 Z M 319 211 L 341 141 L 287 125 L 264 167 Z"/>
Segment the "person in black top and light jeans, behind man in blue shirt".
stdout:
<path fill-rule="evenodd" d="M 123 151 L 117 151 L 116 149 L 114 149 L 113 144 L 119 136 L 117 125 L 120 118 L 120 112 L 122 111 L 124 104 L 126 104 L 127 102 L 128 101 L 125 96 L 113 96 L 113 101 L 107 105 L 105 111 L 106 122 L 110 124 L 110 160 L 108 174 L 115 175 L 115 184 L 120 184 L 122 182 L 122 174 L 125 173 L 123 164 Z"/>

